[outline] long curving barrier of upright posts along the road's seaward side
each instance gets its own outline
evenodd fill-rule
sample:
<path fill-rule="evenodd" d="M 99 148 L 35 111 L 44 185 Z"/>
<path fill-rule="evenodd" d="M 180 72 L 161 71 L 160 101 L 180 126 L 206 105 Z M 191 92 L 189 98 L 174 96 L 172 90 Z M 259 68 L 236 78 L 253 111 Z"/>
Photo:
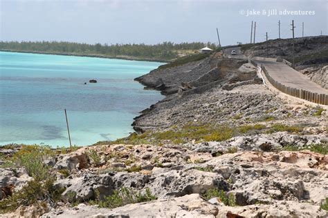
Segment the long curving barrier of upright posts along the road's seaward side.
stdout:
<path fill-rule="evenodd" d="M 255 61 L 251 61 L 251 62 L 255 66 L 257 66 Z M 268 79 L 268 81 L 281 92 L 284 92 L 293 97 L 298 97 L 300 99 L 311 101 L 313 103 L 318 103 L 318 104 L 322 104 L 322 105 L 326 105 L 326 106 L 328 105 L 328 95 L 318 94 L 315 92 L 309 92 L 307 90 L 302 90 L 302 89 L 298 89 L 298 88 L 291 88 L 289 86 L 285 86 L 282 83 L 279 83 L 279 82 L 275 81 L 272 77 L 270 77 L 270 75 L 268 74 L 268 71 L 266 70 L 266 68 L 263 65 L 261 66 L 261 68 L 264 72 L 264 75 L 266 76 L 266 79 Z"/>

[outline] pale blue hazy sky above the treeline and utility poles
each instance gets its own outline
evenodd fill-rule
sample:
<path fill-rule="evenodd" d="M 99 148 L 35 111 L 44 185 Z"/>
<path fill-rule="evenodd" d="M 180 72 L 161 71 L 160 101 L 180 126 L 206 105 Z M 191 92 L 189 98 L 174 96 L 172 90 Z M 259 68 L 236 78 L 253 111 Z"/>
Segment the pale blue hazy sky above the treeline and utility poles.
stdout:
<path fill-rule="evenodd" d="M 257 39 L 327 34 L 327 0 L 0 0 L 1 41 L 75 41 L 85 43 L 158 43 L 163 41 L 250 41 L 250 22 L 257 21 Z M 247 10 L 261 14 L 246 17 Z M 262 14 L 270 9 L 307 10 L 315 15 Z M 245 12 L 244 15 L 241 13 Z"/>

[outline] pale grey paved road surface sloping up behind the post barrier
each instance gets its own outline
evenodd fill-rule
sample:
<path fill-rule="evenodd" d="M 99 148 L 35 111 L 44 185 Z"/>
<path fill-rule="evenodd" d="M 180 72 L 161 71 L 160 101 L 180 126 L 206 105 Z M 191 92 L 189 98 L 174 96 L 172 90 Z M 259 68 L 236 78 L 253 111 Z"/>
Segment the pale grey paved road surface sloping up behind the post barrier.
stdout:
<path fill-rule="evenodd" d="M 305 77 L 301 72 L 294 70 L 285 63 L 272 62 L 272 61 L 257 61 L 259 66 L 263 64 L 268 70 L 268 74 L 275 80 L 285 86 L 291 88 L 299 88 L 302 90 L 308 90 L 311 92 L 316 92 L 318 94 L 328 94 L 328 90 L 322 88 L 317 83 L 314 83 L 307 77 Z"/>

